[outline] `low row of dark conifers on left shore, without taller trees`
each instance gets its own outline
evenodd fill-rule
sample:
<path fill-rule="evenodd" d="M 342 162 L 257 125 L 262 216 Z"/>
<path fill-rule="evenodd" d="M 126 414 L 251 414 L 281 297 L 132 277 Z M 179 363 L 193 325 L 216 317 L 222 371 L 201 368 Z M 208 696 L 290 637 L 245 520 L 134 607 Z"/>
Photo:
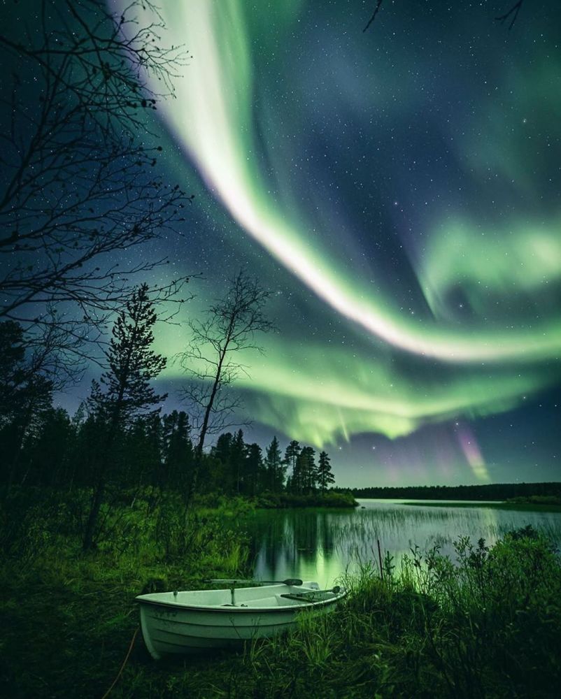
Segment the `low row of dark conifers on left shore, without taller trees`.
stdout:
<path fill-rule="evenodd" d="M 28 389 L 36 391 L 37 387 Z M 94 487 L 106 426 L 87 405 L 73 417 L 63 408 L 53 408 L 48 391 L 40 396 L 41 409 L 26 426 L 31 397 L 21 396 L 10 421 L 0 429 L 0 449 L 6 456 L 0 466 L 3 486 Z M 108 476 L 114 484 L 123 489 L 151 486 L 188 493 L 195 447 L 186 412 L 136 417 L 129 426 L 119 428 L 111 444 Z M 263 452 L 257 443 L 246 442 L 239 430 L 221 434 L 210 452 L 203 454 L 197 493 L 307 496 L 325 493 L 333 482 L 326 452 L 320 452 L 316 461 L 314 449 L 296 441 L 283 452 L 276 437 Z"/>

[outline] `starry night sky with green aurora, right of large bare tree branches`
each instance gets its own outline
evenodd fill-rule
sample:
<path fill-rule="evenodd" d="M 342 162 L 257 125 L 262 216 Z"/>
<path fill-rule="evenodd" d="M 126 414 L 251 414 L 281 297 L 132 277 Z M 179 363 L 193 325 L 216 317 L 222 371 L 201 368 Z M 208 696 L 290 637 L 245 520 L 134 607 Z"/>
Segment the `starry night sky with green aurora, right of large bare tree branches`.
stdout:
<path fill-rule="evenodd" d="M 186 315 L 241 267 L 272 294 L 246 439 L 325 448 L 342 486 L 559 480 L 558 3 L 509 30 L 508 0 L 385 0 L 365 32 L 372 1 L 159 4 L 190 56 L 166 170 L 196 196 L 157 252 L 204 276 Z"/>

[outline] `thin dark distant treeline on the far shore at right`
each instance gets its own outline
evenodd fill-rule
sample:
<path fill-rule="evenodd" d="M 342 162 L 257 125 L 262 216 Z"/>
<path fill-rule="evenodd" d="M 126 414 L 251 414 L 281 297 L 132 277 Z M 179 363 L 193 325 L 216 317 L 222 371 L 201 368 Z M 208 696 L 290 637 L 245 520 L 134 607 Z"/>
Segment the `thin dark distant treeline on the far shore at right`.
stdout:
<path fill-rule="evenodd" d="M 346 489 L 355 498 L 404 500 L 507 500 L 531 496 L 561 496 L 561 483 L 488 483 L 484 485 L 429 485 Z"/>

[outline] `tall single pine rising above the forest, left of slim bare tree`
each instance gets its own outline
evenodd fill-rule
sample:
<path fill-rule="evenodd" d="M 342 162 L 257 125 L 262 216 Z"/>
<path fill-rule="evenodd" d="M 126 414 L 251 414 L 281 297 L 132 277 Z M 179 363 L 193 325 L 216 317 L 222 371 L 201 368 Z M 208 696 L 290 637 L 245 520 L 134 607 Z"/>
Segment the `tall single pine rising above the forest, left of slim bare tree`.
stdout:
<path fill-rule="evenodd" d="M 152 327 L 156 321 L 157 313 L 148 296 L 148 284 L 142 284 L 134 291 L 113 326 L 106 352 L 108 368 L 101 376 L 101 384 L 95 381 L 92 384 L 88 405 L 101 431 L 101 444 L 94 495 L 83 540 L 84 549 L 94 545 L 108 464 L 112 460 L 118 433 L 136 416 L 159 412 L 159 408 L 154 411 L 153 406 L 166 397 L 157 395 L 150 386 L 150 381 L 166 366 L 165 357 L 150 349 L 154 341 Z"/>

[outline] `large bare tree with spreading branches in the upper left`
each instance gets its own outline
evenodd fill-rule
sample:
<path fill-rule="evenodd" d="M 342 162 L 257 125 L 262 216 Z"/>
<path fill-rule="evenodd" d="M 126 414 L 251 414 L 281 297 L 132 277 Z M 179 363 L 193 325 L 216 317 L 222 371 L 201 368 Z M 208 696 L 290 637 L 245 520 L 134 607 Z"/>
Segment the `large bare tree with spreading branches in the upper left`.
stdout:
<path fill-rule="evenodd" d="M 122 16 L 104 4 L 38 0 L 33 27 L 0 33 L 2 65 L 14 66 L 0 96 L 0 317 L 76 341 L 164 264 L 132 250 L 175 233 L 189 199 L 157 173 L 162 147 L 145 126 L 159 99 L 147 75 L 169 95 L 185 55 L 162 48 L 157 15 L 136 22 L 136 0 Z"/>

